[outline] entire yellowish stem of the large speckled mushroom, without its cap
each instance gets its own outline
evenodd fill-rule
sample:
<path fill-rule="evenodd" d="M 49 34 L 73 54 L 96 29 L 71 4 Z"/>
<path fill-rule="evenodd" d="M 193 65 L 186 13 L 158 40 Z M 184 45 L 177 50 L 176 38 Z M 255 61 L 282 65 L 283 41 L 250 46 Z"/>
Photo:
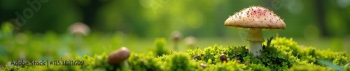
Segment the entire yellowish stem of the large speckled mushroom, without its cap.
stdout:
<path fill-rule="evenodd" d="M 250 44 L 249 52 L 253 53 L 254 57 L 260 56 L 260 50 L 262 50 L 261 43 L 265 41 L 262 37 L 261 29 L 249 29 L 246 40 L 248 40 Z"/>

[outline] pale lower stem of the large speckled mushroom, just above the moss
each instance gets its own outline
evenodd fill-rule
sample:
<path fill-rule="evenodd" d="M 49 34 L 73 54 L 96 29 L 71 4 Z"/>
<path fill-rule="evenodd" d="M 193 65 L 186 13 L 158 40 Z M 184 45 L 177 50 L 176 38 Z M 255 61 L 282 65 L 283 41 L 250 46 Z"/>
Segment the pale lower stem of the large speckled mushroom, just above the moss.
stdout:
<path fill-rule="evenodd" d="M 249 41 L 249 45 L 249 52 L 253 53 L 254 57 L 261 55 L 262 45 L 260 41 Z"/>

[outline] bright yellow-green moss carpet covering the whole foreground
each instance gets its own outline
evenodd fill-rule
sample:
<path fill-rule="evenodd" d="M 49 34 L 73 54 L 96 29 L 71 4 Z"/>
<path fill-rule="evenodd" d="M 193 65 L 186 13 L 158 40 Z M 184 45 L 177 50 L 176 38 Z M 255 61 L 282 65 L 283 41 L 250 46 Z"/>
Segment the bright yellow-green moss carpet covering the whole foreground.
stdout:
<path fill-rule="evenodd" d="M 147 54 L 132 52 L 129 65 L 109 65 L 108 54 L 66 57 L 62 60 L 85 61 L 76 66 L 6 66 L 1 70 L 349 70 L 349 54 L 319 50 L 314 47 L 301 48 L 292 38 L 269 38 L 264 42 L 262 55 L 253 57 L 245 46 L 209 46 L 204 49 L 188 49 L 187 52 L 170 52 L 163 47 L 164 38 L 155 40 L 155 51 Z M 162 55 L 159 55 L 162 54 Z M 228 56 L 221 63 L 220 56 Z M 1 61 L 1 63 L 6 63 Z M 203 68 L 200 63 L 207 65 Z"/>

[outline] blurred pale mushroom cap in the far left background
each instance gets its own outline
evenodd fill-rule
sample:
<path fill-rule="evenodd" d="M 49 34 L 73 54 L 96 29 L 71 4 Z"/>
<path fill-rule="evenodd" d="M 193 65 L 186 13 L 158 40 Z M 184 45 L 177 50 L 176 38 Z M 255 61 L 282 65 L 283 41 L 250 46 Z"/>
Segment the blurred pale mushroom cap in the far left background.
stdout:
<path fill-rule="evenodd" d="M 82 22 L 76 22 L 74 24 L 71 24 L 71 26 L 69 26 L 69 31 L 72 34 L 81 33 L 84 36 L 87 36 L 90 33 L 90 28 L 89 26 L 87 26 Z"/>

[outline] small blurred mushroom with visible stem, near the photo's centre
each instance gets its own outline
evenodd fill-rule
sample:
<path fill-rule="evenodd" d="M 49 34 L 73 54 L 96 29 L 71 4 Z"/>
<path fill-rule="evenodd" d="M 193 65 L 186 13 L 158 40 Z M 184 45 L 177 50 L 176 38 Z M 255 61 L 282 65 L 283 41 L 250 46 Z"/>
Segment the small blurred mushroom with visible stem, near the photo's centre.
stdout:
<path fill-rule="evenodd" d="M 174 41 L 174 49 L 175 50 L 178 50 L 178 45 L 179 45 L 179 41 L 180 41 L 180 38 L 182 37 L 182 34 L 180 31 L 173 31 L 172 32 L 172 40 Z"/>

